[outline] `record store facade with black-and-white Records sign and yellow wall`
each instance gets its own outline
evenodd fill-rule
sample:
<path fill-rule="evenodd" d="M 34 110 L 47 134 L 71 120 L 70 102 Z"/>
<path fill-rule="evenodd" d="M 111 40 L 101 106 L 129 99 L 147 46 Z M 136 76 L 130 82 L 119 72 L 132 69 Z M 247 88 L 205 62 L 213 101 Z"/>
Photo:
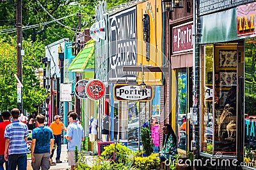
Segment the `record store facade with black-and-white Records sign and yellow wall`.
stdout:
<path fill-rule="evenodd" d="M 100 117 L 108 115 L 110 120 L 109 140 L 124 143 L 132 150 L 138 150 L 140 143 L 139 125 L 150 124 L 152 115 L 159 119 L 161 107 L 160 98 L 163 95 L 163 74 L 146 71 L 124 71 L 125 66 L 163 66 L 162 50 L 162 14 L 160 1 L 145 1 L 142 3 L 126 4 L 123 8 L 109 11 L 107 17 L 108 49 L 102 50 L 107 57 L 107 74 L 96 72 L 96 77 L 108 82 L 109 94 L 99 112 Z M 145 30 L 147 29 L 148 32 Z M 143 32 L 144 31 L 144 32 Z M 145 39 L 145 34 L 147 38 Z M 97 49 L 95 49 L 95 52 Z M 100 56 L 100 55 L 99 55 Z M 95 57 L 95 62 L 101 66 L 102 57 Z M 109 64 L 109 65 L 108 65 Z M 108 67 L 109 66 L 109 67 Z M 99 69 L 100 67 L 96 67 Z M 97 71 L 97 69 L 95 69 Z M 105 70 L 106 71 L 106 70 Z M 116 99 L 116 86 L 122 88 L 131 85 L 138 88 L 144 81 L 150 89 L 152 99 Z M 134 87 L 133 87 L 134 86 Z M 155 95 L 155 93 L 157 93 Z M 154 97 L 155 96 L 155 97 Z M 134 97 L 134 96 L 132 96 Z M 141 97 L 141 96 L 140 96 Z M 108 110 L 109 108 L 109 110 Z M 102 118 L 99 119 L 101 125 Z M 158 122 L 159 123 L 159 122 Z M 159 132 L 158 132 L 159 134 Z M 159 136 L 159 135 L 158 135 Z"/>

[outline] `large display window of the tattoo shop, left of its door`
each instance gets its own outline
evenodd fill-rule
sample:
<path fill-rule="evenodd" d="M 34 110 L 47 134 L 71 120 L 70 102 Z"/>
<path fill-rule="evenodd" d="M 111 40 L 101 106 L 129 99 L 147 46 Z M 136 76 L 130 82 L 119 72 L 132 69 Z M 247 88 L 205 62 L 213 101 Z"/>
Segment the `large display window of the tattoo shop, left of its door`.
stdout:
<path fill-rule="evenodd" d="M 236 156 L 237 43 L 202 46 L 202 152 Z"/>

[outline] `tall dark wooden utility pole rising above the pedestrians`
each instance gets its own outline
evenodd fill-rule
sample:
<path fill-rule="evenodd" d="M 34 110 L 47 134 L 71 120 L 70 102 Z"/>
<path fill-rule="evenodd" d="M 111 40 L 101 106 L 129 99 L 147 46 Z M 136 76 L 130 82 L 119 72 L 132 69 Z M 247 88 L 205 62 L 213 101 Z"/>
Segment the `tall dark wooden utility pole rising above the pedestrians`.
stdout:
<path fill-rule="evenodd" d="M 17 0 L 16 6 L 16 28 L 17 28 L 17 77 L 22 83 L 22 13 L 21 13 L 21 0 Z M 20 90 L 18 90 L 20 89 Z M 20 113 L 23 111 L 22 107 L 22 88 L 20 87 L 19 82 L 17 81 L 17 107 L 20 110 Z"/>

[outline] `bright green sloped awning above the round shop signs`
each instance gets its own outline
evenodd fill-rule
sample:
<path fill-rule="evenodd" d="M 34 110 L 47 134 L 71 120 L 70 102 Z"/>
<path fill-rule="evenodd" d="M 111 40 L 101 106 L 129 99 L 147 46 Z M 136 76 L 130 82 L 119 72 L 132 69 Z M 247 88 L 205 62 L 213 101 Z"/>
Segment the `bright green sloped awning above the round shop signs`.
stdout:
<path fill-rule="evenodd" d="M 87 41 L 68 67 L 72 72 L 93 71 L 94 69 L 94 40 Z"/>

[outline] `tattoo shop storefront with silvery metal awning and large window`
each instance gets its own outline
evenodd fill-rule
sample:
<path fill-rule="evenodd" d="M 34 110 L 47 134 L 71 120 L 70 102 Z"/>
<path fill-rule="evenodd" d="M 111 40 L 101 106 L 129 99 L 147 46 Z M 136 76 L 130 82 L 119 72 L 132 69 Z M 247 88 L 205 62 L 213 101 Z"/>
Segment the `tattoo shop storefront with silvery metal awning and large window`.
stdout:
<path fill-rule="evenodd" d="M 202 83 L 197 149 L 204 163 L 220 159 L 220 164 L 208 162 L 202 169 L 256 168 L 256 6 L 255 3 L 238 6 L 239 2 L 229 10 L 200 16 Z M 225 161 L 229 164 L 224 164 Z"/>

